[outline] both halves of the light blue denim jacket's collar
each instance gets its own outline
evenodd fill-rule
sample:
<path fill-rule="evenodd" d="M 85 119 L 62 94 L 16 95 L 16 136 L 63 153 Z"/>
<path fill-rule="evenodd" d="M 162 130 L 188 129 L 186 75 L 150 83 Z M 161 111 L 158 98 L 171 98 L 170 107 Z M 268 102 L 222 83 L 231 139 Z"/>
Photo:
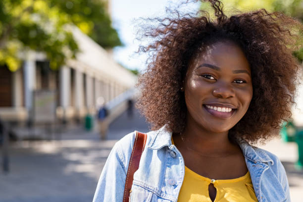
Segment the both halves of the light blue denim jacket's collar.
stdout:
<path fill-rule="evenodd" d="M 168 132 L 165 128 L 166 126 L 164 125 L 162 128 L 155 131 L 154 137 L 152 138 L 152 141 L 148 145 L 148 148 L 152 150 L 159 150 L 165 146 L 170 147 L 172 145 L 171 143 L 172 132 Z M 263 152 L 259 148 L 250 145 L 246 141 L 240 141 L 239 146 L 242 149 L 243 155 L 247 159 L 253 161 L 254 163 L 271 162 L 271 164 L 273 165 L 274 163 L 273 159 L 271 159 L 266 152 Z"/>

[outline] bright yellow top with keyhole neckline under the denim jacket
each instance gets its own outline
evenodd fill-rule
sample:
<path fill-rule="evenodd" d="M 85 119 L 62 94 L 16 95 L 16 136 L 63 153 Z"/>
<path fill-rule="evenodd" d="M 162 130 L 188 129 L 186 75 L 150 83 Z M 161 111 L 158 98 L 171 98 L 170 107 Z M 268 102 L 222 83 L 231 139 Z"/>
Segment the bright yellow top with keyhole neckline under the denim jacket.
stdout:
<path fill-rule="evenodd" d="M 213 186 L 217 190 L 214 202 L 258 201 L 255 197 L 249 172 L 236 179 L 211 180 L 195 173 L 185 166 L 185 176 L 178 202 L 211 202 L 208 194 L 208 186 L 210 183 L 213 183 Z"/>

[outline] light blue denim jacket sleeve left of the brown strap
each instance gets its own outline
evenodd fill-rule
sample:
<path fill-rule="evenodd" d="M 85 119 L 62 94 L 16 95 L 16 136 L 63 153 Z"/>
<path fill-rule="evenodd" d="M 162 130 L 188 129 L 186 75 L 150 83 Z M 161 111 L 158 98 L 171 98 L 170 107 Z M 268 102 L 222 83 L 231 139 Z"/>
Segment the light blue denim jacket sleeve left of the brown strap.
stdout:
<path fill-rule="evenodd" d="M 97 185 L 93 202 L 122 202 L 132 134 L 118 141 L 109 153 Z"/>

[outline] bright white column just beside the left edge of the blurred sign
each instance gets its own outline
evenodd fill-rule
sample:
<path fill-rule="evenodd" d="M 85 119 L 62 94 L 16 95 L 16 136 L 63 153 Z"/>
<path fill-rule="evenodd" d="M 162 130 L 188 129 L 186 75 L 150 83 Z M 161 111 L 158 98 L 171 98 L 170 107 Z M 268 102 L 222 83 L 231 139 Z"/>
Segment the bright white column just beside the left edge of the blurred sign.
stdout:
<path fill-rule="evenodd" d="M 27 110 L 32 109 L 33 91 L 36 87 L 36 62 L 31 53 L 28 53 L 24 61 L 24 101 Z"/>

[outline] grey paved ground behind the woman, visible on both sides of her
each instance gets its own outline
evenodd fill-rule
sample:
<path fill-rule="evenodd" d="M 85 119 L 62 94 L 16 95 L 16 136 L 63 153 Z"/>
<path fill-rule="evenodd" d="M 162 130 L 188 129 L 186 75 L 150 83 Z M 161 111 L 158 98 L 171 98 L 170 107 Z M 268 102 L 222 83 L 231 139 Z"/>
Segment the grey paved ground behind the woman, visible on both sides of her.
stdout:
<path fill-rule="evenodd" d="M 112 146 L 135 129 L 147 132 L 148 127 L 138 113 L 134 118 L 125 113 L 110 125 L 106 141 L 98 131 L 78 127 L 63 132 L 61 140 L 11 145 L 10 172 L 0 172 L 0 202 L 91 202 Z M 281 159 L 292 202 L 302 202 L 303 171 L 294 167 L 297 145 L 273 140 L 262 148 Z"/>

